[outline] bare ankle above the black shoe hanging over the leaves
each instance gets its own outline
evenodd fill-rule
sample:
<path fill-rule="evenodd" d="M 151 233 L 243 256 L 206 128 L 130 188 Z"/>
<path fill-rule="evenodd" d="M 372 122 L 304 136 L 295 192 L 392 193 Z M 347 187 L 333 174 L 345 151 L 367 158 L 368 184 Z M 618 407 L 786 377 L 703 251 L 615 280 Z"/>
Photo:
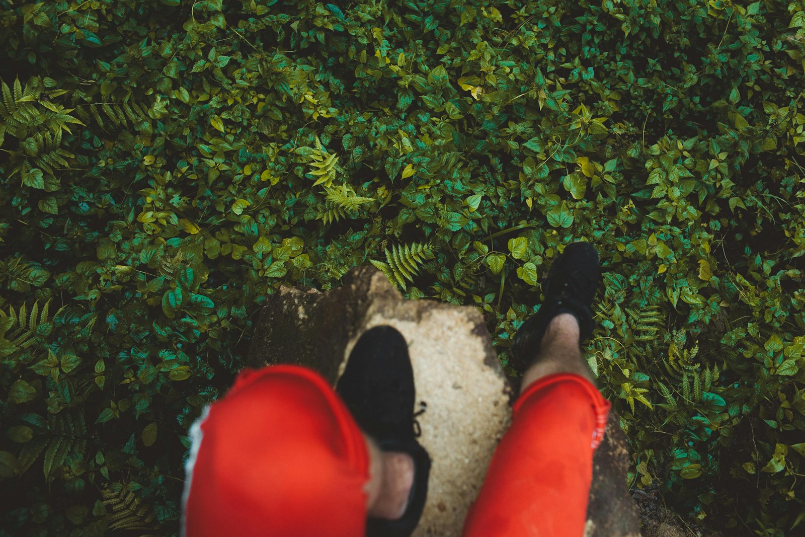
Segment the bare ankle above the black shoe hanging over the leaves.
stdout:
<path fill-rule="evenodd" d="M 520 393 L 537 380 L 553 373 L 576 373 L 596 385 L 589 366 L 581 355 L 579 346 L 579 323 L 569 313 L 555 316 L 548 324 L 542 345 L 534 363 L 522 375 Z"/>

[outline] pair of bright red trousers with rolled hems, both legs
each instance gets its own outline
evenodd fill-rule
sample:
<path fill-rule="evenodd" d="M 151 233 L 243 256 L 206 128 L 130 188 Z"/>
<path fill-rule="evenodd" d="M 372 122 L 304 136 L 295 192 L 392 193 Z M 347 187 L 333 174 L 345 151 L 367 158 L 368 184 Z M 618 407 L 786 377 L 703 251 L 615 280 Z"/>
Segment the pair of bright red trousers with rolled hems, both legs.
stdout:
<path fill-rule="evenodd" d="M 464 535 L 584 534 L 609 401 L 576 374 L 527 387 Z M 369 454 L 332 386 L 299 366 L 244 370 L 191 429 L 187 537 L 361 537 Z"/>

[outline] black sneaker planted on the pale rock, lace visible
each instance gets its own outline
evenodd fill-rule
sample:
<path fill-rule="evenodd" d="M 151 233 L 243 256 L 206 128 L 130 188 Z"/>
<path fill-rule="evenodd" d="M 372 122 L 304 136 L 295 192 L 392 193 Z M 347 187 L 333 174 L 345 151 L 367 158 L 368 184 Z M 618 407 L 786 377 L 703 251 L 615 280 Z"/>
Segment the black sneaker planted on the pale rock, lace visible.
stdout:
<path fill-rule="evenodd" d="M 425 506 L 431 459 L 416 441 L 414 370 L 403 335 L 390 326 L 376 326 L 361 335 L 336 392 L 383 451 L 405 452 L 414 460 L 414 484 L 403 516 L 368 518 L 366 523 L 367 537 L 408 537 Z"/>

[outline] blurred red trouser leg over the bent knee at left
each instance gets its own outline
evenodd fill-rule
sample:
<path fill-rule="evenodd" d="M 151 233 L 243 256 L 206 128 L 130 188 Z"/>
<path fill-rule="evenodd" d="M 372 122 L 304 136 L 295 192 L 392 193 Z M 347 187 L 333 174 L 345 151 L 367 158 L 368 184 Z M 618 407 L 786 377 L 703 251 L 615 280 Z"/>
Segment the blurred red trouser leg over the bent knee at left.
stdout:
<path fill-rule="evenodd" d="M 319 374 L 244 370 L 200 431 L 184 535 L 364 535 L 365 439 Z"/>

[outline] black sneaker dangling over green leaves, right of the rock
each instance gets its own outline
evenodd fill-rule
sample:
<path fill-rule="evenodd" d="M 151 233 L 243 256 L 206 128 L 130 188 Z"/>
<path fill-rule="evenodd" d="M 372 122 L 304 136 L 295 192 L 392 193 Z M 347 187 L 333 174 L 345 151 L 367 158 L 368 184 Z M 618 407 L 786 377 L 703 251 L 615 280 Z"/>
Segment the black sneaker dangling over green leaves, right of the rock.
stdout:
<path fill-rule="evenodd" d="M 556 258 L 543 281 L 545 300 L 539 310 L 518 329 L 511 345 L 511 365 L 525 371 L 539 352 L 551 320 L 570 313 L 579 322 L 579 344 L 592 335 L 592 299 L 601 283 L 598 252 L 589 242 L 573 242 Z"/>

